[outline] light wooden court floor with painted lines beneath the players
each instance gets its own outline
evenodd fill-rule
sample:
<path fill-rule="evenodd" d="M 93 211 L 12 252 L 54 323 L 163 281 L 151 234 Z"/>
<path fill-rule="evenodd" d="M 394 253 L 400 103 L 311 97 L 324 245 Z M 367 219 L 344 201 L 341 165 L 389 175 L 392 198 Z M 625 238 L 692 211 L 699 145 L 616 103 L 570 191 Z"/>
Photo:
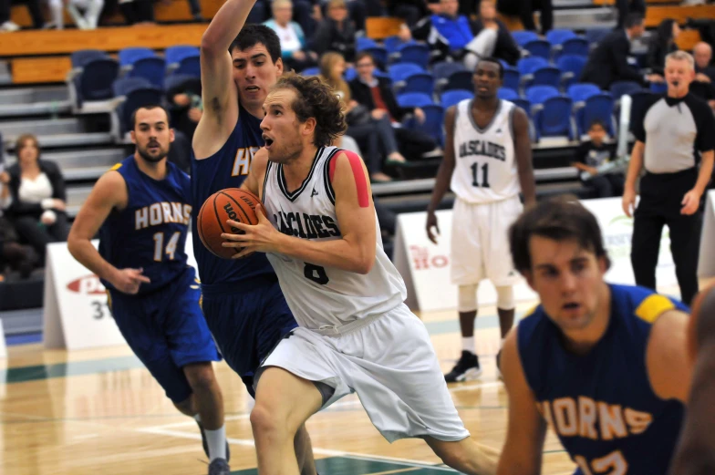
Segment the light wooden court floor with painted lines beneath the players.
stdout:
<path fill-rule="evenodd" d="M 701 281 L 701 287 L 715 279 Z M 678 288 L 659 289 L 678 294 Z M 535 303 L 517 306 L 516 319 Z M 454 311 L 420 315 L 444 372 L 461 353 Z M 496 376 L 496 308 L 477 317 L 482 377 L 450 385 L 472 437 L 501 450 L 506 436 L 506 394 Z M 214 366 L 223 390 L 226 434 L 234 474 L 256 475 L 249 422 L 253 399 L 224 362 Z M 429 395 L 425 395 L 429 398 Z M 389 444 L 373 428 L 355 395 L 307 422 L 322 475 L 438 475 L 445 467 L 419 439 Z M 575 464 L 551 430 L 544 445 L 544 475 L 571 475 Z M 182 416 L 128 346 L 99 350 L 46 350 L 10 346 L 0 360 L 0 475 L 202 475 L 208 460 L 191 418 Z"/>

